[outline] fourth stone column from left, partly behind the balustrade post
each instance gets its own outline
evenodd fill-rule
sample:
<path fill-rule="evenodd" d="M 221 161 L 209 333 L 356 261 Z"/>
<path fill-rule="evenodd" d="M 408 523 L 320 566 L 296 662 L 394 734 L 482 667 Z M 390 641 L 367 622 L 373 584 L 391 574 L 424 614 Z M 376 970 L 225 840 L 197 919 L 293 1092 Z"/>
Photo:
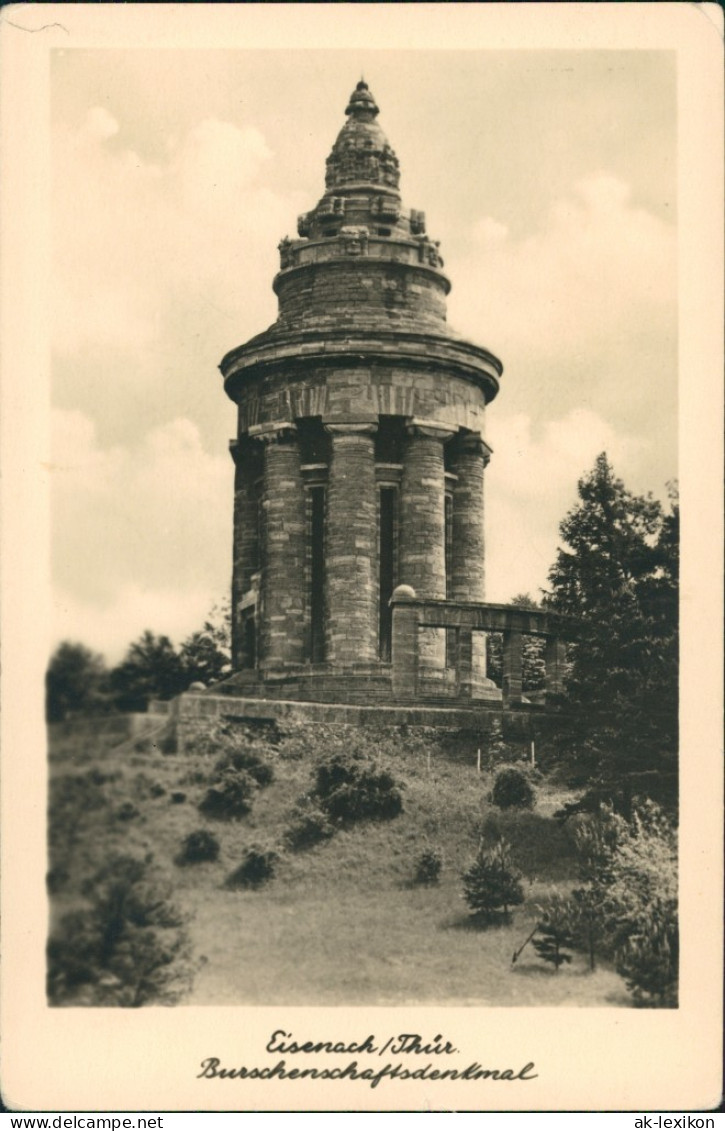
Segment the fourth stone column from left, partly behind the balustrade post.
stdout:
<path fill-rule="evenodd" d="M 414 421 L 407 429 L 400 482 L 399 578 L 418 597 L 446 598 L 446 468 L 449 429 Z M 418 666 L 442 673 L 446 630 L 421 629 Z"/>

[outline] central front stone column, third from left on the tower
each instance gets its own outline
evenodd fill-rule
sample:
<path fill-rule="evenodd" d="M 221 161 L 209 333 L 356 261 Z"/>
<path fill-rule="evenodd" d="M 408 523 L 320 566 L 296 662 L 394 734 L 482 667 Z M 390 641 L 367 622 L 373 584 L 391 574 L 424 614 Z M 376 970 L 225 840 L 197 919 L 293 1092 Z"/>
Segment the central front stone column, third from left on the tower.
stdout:
<path fill-rule="evenodd" d="M 377 485 L 373 423 L 330 423 L 325 644 L 331 664 L 377 657 Z"/>

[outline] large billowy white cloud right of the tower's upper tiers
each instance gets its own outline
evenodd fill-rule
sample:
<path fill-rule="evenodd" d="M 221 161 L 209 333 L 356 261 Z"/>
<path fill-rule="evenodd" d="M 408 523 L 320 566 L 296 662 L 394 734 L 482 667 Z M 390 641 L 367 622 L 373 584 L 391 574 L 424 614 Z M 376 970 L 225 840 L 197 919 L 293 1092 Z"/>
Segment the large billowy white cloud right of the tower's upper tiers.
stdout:
<path fill-rule="evenodd" d="M 509 411 L 551 418 L 586 406 L 631 431 L 672 429 L 675 231 L 623 181 L 584 178 L 521 239 L 478 221 L 449 266 L 451 323 L 502 357 Z"/>

